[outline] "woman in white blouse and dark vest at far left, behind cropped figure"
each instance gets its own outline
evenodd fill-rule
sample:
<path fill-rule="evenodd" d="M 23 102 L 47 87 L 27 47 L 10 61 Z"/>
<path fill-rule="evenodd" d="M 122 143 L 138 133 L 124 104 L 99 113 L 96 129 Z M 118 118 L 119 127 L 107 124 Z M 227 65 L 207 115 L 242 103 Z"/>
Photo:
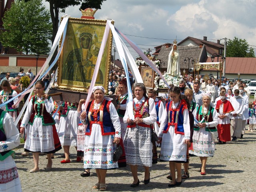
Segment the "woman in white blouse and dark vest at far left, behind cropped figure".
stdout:
<path fill-rule="evenodd" d="M 7 80 L 4 80 L 1 86 L 3 90 L 0 92 L 0 104 L 8 101 L 9 99 L 17 95 L 17 92 L 12 90 L 10 83 Z M 16 106 L 14 105 L 14 103 L 16 103 L 17 101 L 18 97 L 2 107 L 2 110 L 7 111 L 10 116 L 12 116 L 14 121 L 16 121 L 18 112 L 17 108 L 19 107 L 19 104 L 17 104 Z"/>

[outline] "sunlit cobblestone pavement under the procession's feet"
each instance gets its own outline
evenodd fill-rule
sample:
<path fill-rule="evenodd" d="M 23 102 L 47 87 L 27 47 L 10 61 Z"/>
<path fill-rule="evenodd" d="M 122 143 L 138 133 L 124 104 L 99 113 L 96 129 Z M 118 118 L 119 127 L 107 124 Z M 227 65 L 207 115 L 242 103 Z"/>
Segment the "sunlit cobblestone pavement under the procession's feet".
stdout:
<path fill-rule="evenodd" d="M 201 176 L 199 157 L 190 157 L 190 178 L 183 180 L 180 186 L 175 189 L 168 188 L 170 180 L 166 178 L 169 174 L 169 166 L 166 162 L 158 162 L 150 169 L 150 183 L 143 184 L 143 168 L 139 167 L 138 176 L 141 181 L 136 188 L 131 188 L 133 182 L 130 168 L 119 168 L 108 170 L 106 183 L 107 190 L 113 192 L 123 191 L 167 191 L 176 192 L 184 190 L 190 191 L 236 191 L 250 192 L 255 191 L 255 142 L 256 132 L 248 132 L 244 139 L 238 142 L 228 142 L 224 145 L 216 145 L 213 158 L 208 158 L 206 164 L 206 176 Z M 159 149 L 160 150 L 160 149 Z M 24 192 L 47 191 L 47 192 L 86 192 L 92 190 L 92 186 L 98 182 L 95 170 L 91 170 L 90 177 L 81 177 L 83 164 L 76 162 L 76 150 L 70 148 L 71 163 L 61 164 L 63 149 L 55 154 L 52 170 L 46 171 L 46 156 L 40 156 L 40 172 L 30 173 L 29 170 L 34 166 L 32 154 L 22 157 L 23 148 L 16 149 L 16 166 Z M 189 188 L 189 189 L 186 189 Z"/>

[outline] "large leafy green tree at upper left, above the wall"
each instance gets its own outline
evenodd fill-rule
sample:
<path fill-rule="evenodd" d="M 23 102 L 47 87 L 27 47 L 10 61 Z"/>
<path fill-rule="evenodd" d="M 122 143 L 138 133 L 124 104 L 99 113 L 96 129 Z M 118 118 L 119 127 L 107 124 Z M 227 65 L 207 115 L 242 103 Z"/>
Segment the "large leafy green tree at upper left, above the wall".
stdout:
<path fill-rule="evenodd" d="M 50 13 L 42 0 L 15 0 L 3 18 L 6 31 L 0 34 L 3 46 L 18 51 L 47 54 L 52 35 Z"/>

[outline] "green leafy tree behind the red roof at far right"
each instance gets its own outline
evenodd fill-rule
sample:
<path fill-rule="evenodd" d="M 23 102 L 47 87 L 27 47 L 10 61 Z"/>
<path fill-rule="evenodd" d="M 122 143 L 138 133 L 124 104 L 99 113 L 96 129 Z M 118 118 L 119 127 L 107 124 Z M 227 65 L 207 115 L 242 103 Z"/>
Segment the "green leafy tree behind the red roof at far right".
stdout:
<path fill-rule="evenodd" d="M 255 57 L 252 47 L 249 48 L 249 44 L 246 40 L 238 39 L 234 37 L 233 40 L 229 39 L 227 42 L 227 57 Z"/>

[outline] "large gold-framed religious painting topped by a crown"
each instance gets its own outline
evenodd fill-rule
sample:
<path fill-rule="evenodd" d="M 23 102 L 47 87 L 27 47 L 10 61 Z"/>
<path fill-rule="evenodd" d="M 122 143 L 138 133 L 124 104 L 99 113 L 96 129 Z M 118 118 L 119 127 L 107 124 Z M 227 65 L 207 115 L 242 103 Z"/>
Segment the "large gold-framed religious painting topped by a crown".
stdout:
<path fill-rule="evenodd" d="M 86 92 L 92 80 L 105 28 L 106 20 L 69 18 L 66 38 L 58 60 L 58 88 Z M 111 48 L 110 31 L 95 83 L 102 85 L 105 90 L 108 90 Z"/>

